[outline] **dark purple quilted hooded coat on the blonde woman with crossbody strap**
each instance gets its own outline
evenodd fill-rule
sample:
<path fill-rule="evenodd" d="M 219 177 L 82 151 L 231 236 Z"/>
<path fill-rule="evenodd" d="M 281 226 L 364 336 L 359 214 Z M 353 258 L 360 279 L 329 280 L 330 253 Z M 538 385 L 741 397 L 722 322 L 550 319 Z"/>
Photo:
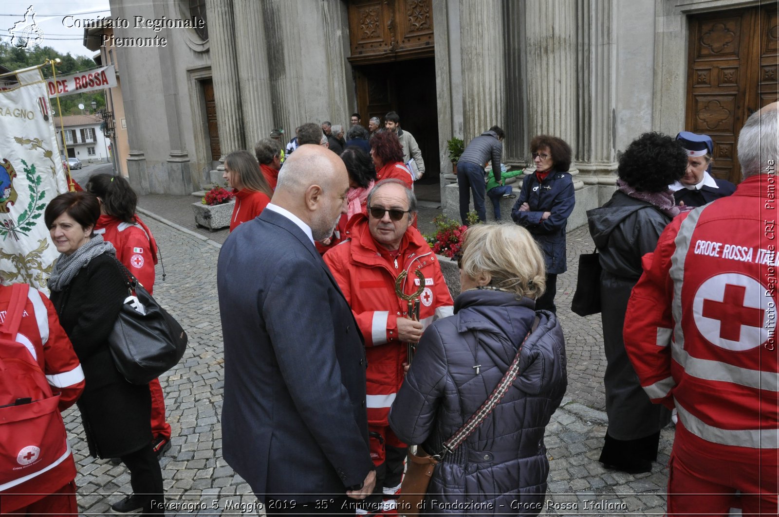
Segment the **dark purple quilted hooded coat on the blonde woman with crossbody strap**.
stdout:
<path fill-rule="evenodd" d="M 533 307 L 529 298 L 517 301 L 513 294 L 467 290 L 454 303 L 455 315 L 425 329 L 390 410 L 390 426 L 401 440 L 435 453 L 485 402 L 535 316 L 540 318 L 523 346 L 520 375 L 506 396 L 474 434 L 435 467 L 428 513 L 541 511 L 549 471 L 544 431 L 566 392 L 566 349 L 555 315 Z M 443 505 L 431 508 L 433 499 Z M 492 510 L 446 508 L 455 501 L 492 503 Z"/>

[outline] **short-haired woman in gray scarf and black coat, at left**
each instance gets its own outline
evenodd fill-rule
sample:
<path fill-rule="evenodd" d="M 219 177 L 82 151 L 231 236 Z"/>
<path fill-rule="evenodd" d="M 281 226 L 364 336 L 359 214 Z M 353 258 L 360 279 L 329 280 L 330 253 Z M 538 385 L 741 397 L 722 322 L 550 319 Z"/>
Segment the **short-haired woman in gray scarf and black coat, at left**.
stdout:
<path fill-rule="evenodd" d="M 44 220 L 61 253 L 48 279 L 51 301 L 84 371 L 78 407 L 90 454 L 120 457 L 130 471 L 134 494 L 111 510 L 164 513 L 162 473 L 151 445 L 149 385 L 127 382 L 108 350 L 128 293 L 113 245 L 93 234 L 99 216 L 99 200 L 86 192 L 58 195 L 46 207 Z"/>

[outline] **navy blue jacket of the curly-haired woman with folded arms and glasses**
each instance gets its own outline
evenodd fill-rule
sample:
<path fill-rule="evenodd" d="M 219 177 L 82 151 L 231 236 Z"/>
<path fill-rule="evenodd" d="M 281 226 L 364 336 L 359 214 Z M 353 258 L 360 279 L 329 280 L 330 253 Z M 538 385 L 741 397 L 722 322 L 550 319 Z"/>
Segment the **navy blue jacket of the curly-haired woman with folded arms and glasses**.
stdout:
<path fill-rule="evenodd" d="M 520 212 L 523 202 L 530 205 L 530 211 Z M 565 273 L 568 269 L 566 226 L 575 204 L 571 175 L 552 170 L 541 184 L 535 174 L 525 176 L 520 196 L 511 209 L 514 222 L 526 227 L 544 251 L 547 273 Z M 552 215 L 547 220 L 541 220 L 545 212 Z"/>

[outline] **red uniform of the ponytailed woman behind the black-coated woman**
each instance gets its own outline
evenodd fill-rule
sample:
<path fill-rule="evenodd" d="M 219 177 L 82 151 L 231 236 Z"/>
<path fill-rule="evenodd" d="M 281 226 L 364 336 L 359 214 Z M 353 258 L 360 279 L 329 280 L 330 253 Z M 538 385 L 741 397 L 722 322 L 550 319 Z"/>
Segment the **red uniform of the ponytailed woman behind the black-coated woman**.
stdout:
<path fill-rule="evenodd" d="M 115 216 L 100 215 L 95 225 L 95 233 L 102 234 L 103 240 L 114 244 L 116 258 L 125 265 L 130 273 L 153 294 L 154 265 L 157 264 L 157 241 L 151 230 L 135 216 L 135 223 L 125 223 Z M 151 393 L 151 431 L 155 438 L 161 436 L 171 439 L 171 424 L 165 421 L 165 395 L 158 379 L 149 383 Z"/>

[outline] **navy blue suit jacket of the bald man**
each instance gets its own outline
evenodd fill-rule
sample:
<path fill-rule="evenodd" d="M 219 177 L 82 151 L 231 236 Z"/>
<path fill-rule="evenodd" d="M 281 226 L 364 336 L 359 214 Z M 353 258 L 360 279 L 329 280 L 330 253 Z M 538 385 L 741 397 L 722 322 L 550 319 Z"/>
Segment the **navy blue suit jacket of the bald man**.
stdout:
<path fill-rule="evenodd" d="M 227 237 L 217 287 L 224 459 L 263 502 L 360 484 L 373 468 L 365 346 L 314 244 L 265 209 Z"/>

